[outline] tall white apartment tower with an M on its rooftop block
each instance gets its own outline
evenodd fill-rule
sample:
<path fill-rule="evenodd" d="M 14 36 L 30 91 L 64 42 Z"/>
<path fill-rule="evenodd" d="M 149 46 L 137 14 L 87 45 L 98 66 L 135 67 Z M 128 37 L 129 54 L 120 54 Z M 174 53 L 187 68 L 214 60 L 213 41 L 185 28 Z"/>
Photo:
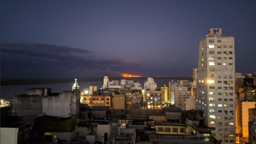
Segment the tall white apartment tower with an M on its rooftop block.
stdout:
<path fill-rule="evenodd" d="M 196 108 L 222 144 L 236 142 L 235 45 L 233 36 L 211 28 L 199 43 Z"/>

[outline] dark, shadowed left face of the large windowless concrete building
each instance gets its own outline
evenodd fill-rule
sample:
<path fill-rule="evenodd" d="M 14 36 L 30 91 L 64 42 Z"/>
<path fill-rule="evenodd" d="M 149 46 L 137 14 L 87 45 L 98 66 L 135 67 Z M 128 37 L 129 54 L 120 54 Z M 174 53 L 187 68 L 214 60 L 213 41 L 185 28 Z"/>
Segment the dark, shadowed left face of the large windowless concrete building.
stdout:
<path fill-rule="evenodd" d="M 12 112 L 21 116 L 21 122 L 33 123 L 43 112 L 42 96 L 17 95 L 12 97 Z"/>

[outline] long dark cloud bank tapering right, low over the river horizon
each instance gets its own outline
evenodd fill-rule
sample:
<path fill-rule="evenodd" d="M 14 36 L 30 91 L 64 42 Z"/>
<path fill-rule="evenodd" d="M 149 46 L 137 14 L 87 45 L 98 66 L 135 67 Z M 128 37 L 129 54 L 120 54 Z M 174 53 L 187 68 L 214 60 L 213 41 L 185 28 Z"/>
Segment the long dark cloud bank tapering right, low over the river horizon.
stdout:
<path fill-rule="evenodd" d="M 121 70 L 140 67 L 122 59 L 92 56 L 88 50 L 50 44 L 1 44 L 1 77 L 48 78 L 121 75 Z"/>

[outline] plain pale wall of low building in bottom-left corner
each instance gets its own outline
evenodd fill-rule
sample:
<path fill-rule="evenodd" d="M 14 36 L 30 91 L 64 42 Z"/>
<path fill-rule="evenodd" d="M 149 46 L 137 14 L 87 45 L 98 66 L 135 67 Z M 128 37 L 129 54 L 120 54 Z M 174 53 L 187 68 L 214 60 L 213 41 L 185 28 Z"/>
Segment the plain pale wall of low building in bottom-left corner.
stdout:
<path fill-rule="evenodd" d="M 1 144 L 17 144 L 19 128 L 0 128 Z"/>

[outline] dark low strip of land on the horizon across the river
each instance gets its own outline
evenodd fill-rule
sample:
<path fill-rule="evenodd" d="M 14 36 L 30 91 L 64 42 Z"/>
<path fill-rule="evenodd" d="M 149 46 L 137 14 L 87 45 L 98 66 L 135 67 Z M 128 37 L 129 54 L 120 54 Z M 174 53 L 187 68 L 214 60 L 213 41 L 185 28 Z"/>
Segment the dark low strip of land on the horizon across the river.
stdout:
<path fill-rule="evenodd" d="M 120 79 L 147 79 L 148 77 L 109 77 L 111 80 L 120 80 Z M 174 80 L 193 80 L 192 77 L 153 77 L 154 79 L 174 79 Z M 73 83 L 75 78 L 60 78 L 60 79 L 1 79 L 2 85 L 32 85 L 32 84 L 61 84 L 61 83 Z M 103 77 L 87 77 L 87 78 L 77 78 L 78 82 L 94 82 L 94 81 L 103 81 Z"/>

